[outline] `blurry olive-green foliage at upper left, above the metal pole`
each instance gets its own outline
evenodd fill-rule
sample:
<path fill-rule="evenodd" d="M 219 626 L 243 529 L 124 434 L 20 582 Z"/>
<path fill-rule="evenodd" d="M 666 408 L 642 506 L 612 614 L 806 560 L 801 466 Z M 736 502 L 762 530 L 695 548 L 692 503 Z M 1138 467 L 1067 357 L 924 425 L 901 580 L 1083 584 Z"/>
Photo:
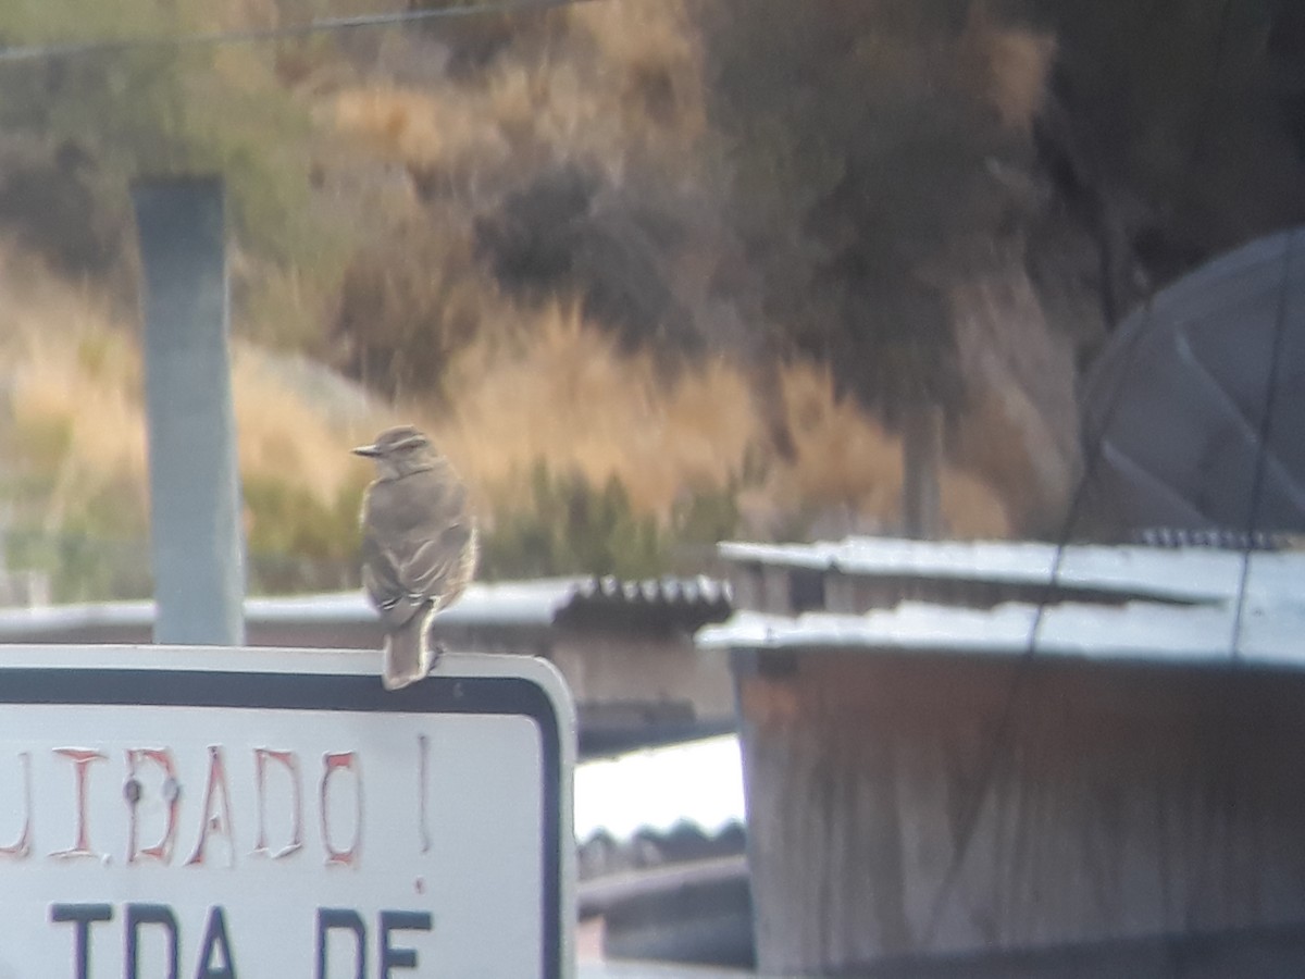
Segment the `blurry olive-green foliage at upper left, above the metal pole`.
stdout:
<path fill-rule="evenodd" d="M 204 9 L 197 0 L 0 3 L 0 37 L 162 37 L 196 30 Z M 111 48 L 0 64 L 0 132 L 74 141 L 106 175 L 98 208 L 127 214 L 137 178 L 215 172 L 254 253 L 309 264 L 333 247 L 329 222 L 309 206 L 307 110 L 278 84 L 266 48 Z"/>

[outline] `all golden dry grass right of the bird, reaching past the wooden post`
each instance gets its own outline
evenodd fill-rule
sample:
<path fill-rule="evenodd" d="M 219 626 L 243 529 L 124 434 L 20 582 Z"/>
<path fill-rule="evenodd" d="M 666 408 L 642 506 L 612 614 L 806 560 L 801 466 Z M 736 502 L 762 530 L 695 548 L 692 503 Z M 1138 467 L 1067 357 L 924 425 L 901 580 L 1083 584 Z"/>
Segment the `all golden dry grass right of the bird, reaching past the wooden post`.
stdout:
<path fill-rule="evenodd" d="M 686 492 L 701 491 L 740 492 L 740 533 L 829 513 L 848 516 L 848 529 L 900 521 L 900 440 L 838 397 L 823 368 L 780 371 L 776 394 L 797 448 L 791 461 L 769 448 L 766 420 L 736 365 L 709 358 L 668 382 L 651 355 L 619 352 L 570 307 L 472 346 L 450 390 L 452 407 L 433 431 L 487 501 L 510 501 L 522 491 L 513 480 L 544 461 L 595 487 L 615 476 L 636 509 L 663 522 Z M 1010 533 L 1000 499 L 977 476 L 945 465 L 941 491 L 950 533 Z"/>

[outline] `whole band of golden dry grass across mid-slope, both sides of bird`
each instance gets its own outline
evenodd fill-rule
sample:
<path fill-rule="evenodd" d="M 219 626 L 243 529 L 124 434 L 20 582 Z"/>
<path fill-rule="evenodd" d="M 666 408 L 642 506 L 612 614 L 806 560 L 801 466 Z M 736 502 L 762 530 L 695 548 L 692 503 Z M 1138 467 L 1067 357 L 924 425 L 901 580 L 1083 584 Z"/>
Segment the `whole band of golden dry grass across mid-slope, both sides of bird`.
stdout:
<path fill-rule="evenodd" d="M 132 332 L 72 291 L 38 287 L 17 300 L 10 292 L 7 312 L 16 328 L 3 346 L 14 394 L 7 441 L 16 462 L 50 475 L 42 526 L 57 531 L 106 492 L 130 508 L 124 526 L 144 526 L 145 419 Z M 895 522 L 900 443 L 834 397 L 827 371 L 793 365 L 782 375 L 799 446 L 790 465 L 767 456 L 748 380 L 727 362 L 705 362 L 667 382 L 650 356 L 620 354 L 573 308 L 521 316 L 459 356 L 452 407 L 437 418 L 411 405 L 377 405 L 320 368 L 238 343 L 232 385 L 243 478 L 338 513 L 369 476 L 347 449 L 407 420 L 435 435 L 487 512 L 527 505 L 521 474 L 543 459 L 553 473 L 577 473 L 595 487 L 616 476 L 634 510 L 663 523 L 685 493 L 740 487 L 753 521 L 745 530 L 756 533 L 793 514 L 826 512 L 856 514 L 863 527 Z M 46 328 L 55 320 L 60 329 Z M 953 533 L 1006 531 L 1000 503 L 976 478 L 947 469 L 942 493 Z"/>

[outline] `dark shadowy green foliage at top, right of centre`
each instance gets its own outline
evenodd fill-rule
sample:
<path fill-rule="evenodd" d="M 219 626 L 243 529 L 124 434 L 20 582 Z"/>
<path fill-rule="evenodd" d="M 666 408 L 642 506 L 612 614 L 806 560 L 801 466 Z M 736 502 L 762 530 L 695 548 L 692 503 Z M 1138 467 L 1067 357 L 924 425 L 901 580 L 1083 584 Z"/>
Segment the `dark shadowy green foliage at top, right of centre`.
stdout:
<path fill-rule="evenodd" d="M 985 104 L 964 3 L 727 0 L 705 8 L 713 111 L 790 351 L 895 416 L 959 397 L 946 286 L 1007 211 L 992 161 L 1028 154 Z M 763 244 L 762 244 L 763 243 Z"/>

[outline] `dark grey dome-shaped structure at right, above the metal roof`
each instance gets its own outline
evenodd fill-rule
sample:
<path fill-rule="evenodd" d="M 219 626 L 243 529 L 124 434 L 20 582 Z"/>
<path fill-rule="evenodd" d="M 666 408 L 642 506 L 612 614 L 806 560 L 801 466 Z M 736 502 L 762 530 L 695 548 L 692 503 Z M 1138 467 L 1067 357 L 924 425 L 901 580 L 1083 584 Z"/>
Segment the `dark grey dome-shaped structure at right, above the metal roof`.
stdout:
<path fill-rule="evenodd" d="M 1305 227 L 1131 312 L 1082 415 L 1094 495 L 1125 529 L 1305 531 Z"/>

